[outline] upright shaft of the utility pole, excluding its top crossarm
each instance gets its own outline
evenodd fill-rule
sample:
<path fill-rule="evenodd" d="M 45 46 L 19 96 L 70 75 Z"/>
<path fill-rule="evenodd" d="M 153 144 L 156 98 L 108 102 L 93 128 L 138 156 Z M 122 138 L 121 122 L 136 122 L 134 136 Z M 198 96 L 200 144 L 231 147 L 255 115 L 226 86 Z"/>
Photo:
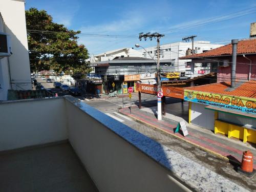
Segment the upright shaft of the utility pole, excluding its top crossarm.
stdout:
<path fill-rule="evenodd" d="M 157 37 L 157 92 L 161 91 L 160 79 L 160 37 Z M 162 120 L 162 98 L 157 98 L 157 120 Z"/>

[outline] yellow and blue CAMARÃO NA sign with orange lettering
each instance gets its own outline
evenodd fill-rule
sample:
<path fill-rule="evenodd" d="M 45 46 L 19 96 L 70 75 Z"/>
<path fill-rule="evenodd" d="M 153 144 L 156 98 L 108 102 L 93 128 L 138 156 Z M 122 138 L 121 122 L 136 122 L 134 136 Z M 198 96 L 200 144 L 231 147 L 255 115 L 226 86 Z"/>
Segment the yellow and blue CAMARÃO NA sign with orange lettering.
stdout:
<path fill-rule="evenodd" d="M 184 90 L 184 100 L 256 114 L 256 99 L 248 97 L 213 94 L 201 91 Z"/>

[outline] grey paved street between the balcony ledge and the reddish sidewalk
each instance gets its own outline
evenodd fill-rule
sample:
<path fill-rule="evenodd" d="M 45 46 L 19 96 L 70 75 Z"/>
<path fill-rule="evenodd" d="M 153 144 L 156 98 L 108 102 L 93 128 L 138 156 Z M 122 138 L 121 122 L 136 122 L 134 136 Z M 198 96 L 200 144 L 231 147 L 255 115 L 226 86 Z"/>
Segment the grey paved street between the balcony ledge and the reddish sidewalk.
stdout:
<path fill-rule="evenodd" d="M 147 95 L 147 94 L 142 94 L 141 96 L 143 100 L 142 106 L 145 107 L 144 109 L 157 105 L 156 96 Z M 132 101 L 134 105 L 133 108 L 136 108 L 136 105 L 138 105 L 138 96 L 133 97 Z M 167 101 L 166 102 L 167 106 L 181 105 L 181 102 L 179 99 L 166 98 L 166 101 Z M 121 114 L 118 110 L 118 108 L 120 109 L 122 107 L 121 98 L 110 98 L 110 99 L 107 98 L 102 100 L 89 100 L 84 102 L 90 104 L 91 106 L 94 106 L 94 108 L 105 113 L 106 115 L 109 115 L 110 117 L 132 127 L 134 130 L 184 155 L 185 157 L 198 162 L 202 166 L 205 166 L 213 170 L 214 172 L 230 179 L 233 182 L 239 183 L 241 186 L 249 188 L 252 191 L 254 190 L 256 191 L 256 184 L 255 184 L 256 178 L 254 177 L 253 179 L 250 179 L 250 178 L 247 178 L 246 176 L 243 176 L 237 173 L 236 170 L 234 170 L 234 165 L 237 165 L 237 164 L 231 164 L 227 160 L 224 160 L 219 156 L 205 152 L 204 150 L 202 150 L 201 148 L 197 147 L 194 144 L 190 144 L 177 137 L 164 133 L 153 126 L 150 126 L 149 124 L 141 123 L 140 121 L 137 121 L 132 117 Z M 129 98 L 124 98 L 124 103 L 126 103 L 125 105 L 130 106 L 130 104 L 127 102 L 129 102 Z M 170 103 L 173 103 L 173 105 L 170 105 Z M 184 104 L 184 108 L 186 108 L 187 104 L 185 102 L 183 104 Z M 176 108 L 170 109 L 167 107 L 167 110 L 169 110 L 169 112 L 174 112 L 177 109 Z M 132 114 L 133 114 L 133 109 L 132 109 Z M 134 113 L 134 115 L 136 115 L 136 113 Z M 138 114 L 137 116 L 139 117 Z"/>

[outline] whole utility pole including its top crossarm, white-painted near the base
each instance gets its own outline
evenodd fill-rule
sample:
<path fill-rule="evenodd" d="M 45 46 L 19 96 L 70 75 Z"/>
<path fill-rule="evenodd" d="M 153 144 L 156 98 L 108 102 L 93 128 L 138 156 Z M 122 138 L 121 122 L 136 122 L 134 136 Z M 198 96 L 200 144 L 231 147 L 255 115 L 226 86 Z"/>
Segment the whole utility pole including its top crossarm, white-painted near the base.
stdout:
<path fill-rule="evenodd" d="M 140 33 L 139 34 L 139 40 L 144 38 L 144 40 L 147 39 L 147 37 L 152 40 L 154 37 L 157 40 L 157 92 L 161 91 L 161 77 L 160 77 L 160 38 L 163 37 L 163 34 L 159 33 Z M 157 98 L 157 120 L 162 120 L 162 98 Z"/>

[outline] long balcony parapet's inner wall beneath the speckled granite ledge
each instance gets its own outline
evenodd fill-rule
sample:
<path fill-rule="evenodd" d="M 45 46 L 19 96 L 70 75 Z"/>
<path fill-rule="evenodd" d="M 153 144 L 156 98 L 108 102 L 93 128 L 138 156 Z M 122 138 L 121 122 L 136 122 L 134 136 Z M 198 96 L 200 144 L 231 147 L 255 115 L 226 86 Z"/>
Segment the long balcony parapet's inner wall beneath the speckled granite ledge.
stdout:
<path fill-rule="evenodd" d="M 99 191 L 189 191 L 171 173 L 66 101 L 69 140 Z"/>

